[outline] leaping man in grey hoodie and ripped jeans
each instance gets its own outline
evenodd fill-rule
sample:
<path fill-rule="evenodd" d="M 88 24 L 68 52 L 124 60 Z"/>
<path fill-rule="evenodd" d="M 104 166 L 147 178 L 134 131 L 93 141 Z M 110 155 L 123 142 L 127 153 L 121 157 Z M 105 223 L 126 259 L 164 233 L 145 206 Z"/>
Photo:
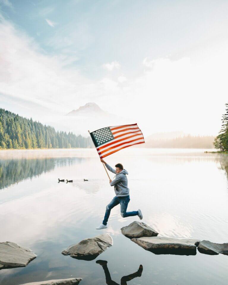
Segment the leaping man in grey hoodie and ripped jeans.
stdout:
<path fill-rule="evenodd" d="M 107 167 L 109 171 L 116 174 L 115 179 L 113 181 L 110 180 L 110 186 L 114 186 L 116 196 L 106 206 L 104 220 L 102 224 L 96 229 L 106 229 L 107 228 L 107 221 L 110 216 L 111 209 L 117 206 L 118 204 L 120 204 L 121 216 L 123 218 L 130 217 L 130 216 L 139 216 L 140 220 L 142 220 L 143 215 L 140 209 L 138 209 L 137 211 L 126 212 L 127 205 L 130 202 L 129 188 L 127 187 L 127 177 L 126 177 L 126 174 L 128 174 L 128 172 L 123 168 L 123 165 L 121 163 L 116 164 L 115 169 L 113 169 L 103 159 L 101 159 L 101 162 L 105 164 L 105 166 Z"/>

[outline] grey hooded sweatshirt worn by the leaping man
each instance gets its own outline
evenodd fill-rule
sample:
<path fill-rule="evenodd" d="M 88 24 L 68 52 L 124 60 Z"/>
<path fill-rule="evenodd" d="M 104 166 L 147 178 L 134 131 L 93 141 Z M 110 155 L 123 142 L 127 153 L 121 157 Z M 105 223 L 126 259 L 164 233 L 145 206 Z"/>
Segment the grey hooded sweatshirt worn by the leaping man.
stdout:
<path fill-rule="evenodd" d="M 105 166 L 109 171 L 115 173 L 115 169 L 113 169 L 110 165 L 106 163 Z M 127 187 L 126 174 L 128 174 L 128 172 L 125 169 L 123 169 L 121 172 L 115 175 L 115 179 L 110 183 L 110 186 L 114 185 L 114 190 L 117 197 L 129 195 L 129 188 Z"/>

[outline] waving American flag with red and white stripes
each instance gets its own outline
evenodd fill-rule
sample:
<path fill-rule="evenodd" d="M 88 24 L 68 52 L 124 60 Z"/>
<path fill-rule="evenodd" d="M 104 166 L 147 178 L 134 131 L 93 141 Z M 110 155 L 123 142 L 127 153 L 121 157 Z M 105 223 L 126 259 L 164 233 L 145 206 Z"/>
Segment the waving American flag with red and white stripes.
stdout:
<path fill-rule="evenodd" d="M 91 132 L 90 135 L 100 158 L 131 145 L 145 143 L 137 124 L 106 127 Z"/>

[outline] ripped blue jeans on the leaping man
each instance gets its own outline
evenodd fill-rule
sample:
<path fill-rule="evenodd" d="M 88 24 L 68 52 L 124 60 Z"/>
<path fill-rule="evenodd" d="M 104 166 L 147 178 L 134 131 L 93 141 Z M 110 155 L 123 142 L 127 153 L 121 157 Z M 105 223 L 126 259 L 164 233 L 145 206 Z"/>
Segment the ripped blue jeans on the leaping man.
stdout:
<path fill-rule="evenodd" d="M 120 212 L 121 216 L 123 218 L 130 217 L 130 216 L 138 216 L 139 212 L 138 211 L 132 211 L 132 212 L 126 212 L 127 210 L 127 205 L 130 202 L 130 196 L 123 196 L 123 197 L 117 197 L 115 196 L 113 200 L 106 206 L 106 211 L 105 211 L 105 218 L 103 220 L 103 225 L 107 225 L 108 218 L 110 216 L 110 212 L 112 208 L 120 204 Z"/>

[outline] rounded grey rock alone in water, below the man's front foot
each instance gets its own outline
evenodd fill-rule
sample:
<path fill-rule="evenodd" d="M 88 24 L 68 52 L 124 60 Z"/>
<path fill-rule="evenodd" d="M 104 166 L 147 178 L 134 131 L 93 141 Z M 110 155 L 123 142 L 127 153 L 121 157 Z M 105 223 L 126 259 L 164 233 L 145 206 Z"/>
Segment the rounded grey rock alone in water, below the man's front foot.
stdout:
<path fill-rule="evenodd" d="M 108 234 L 102 234 L 94 238 L 86 238 L 80 241 L 80 243 L 69 246 L 62 251 L 62 254 L 70 255 L 77 259 L 93 260 L 112 245 L 112 237 Z"/>

